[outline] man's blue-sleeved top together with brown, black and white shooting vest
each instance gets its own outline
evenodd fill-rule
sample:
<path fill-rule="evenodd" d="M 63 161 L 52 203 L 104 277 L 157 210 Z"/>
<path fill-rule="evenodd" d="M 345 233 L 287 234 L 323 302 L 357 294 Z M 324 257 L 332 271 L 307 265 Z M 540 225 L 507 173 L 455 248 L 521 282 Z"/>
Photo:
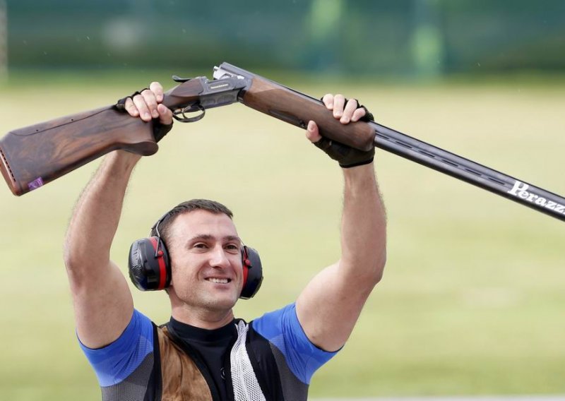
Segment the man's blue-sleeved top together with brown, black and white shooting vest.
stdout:
<path fill-rule="evenodd" d="M 294 308 L 249 324 L 234 319 L 213 333 L 174 319 L 157 326 L 134 311 L 118 340 L 82 348 L 103 401 L 302 401 L 314 371 L 335 352 L 309 342 Z"/>

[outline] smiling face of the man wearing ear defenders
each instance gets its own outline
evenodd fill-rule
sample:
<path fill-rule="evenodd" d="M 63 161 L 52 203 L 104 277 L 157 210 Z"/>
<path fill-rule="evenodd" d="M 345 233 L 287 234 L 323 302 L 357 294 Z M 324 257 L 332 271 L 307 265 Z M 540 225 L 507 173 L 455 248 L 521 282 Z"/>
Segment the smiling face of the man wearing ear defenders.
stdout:
<path fill-rule="evenodd" d="M 226 311 L 243 286 L 242 242 L 227 215 L 193 210 L 176 217 L 167 244 L 172 288 L 188 306 Z"/>

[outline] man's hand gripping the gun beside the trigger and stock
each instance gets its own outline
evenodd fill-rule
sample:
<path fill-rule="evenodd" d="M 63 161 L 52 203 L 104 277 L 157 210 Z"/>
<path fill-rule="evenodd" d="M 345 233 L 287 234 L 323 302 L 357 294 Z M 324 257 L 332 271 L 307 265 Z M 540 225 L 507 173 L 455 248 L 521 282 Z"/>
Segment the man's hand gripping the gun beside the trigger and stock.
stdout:
<path fill-rule="evenodd" d="M 159 142 L 172 128 L 172 112 L 162 104 L 163 87 L 152 82 L 149 88 L 118 100 L 116 106 L 132 117 L 139 117 L 145 122 L 155 120 L 153 136 Z"/>

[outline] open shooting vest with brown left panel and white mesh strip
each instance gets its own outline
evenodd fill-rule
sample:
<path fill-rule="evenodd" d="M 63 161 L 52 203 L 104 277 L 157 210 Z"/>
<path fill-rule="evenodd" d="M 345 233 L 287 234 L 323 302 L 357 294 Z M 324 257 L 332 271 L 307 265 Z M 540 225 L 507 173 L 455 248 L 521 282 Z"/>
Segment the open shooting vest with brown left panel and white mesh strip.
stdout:
<path fill-rule="evenodd" d="M 235 320 L 237 338 L 225 360 L 230 401 L 307 399 L 308 385 L 290 371 L 282 352 Z M 102 387 L 104 401 L 225 401 L 201 355 L 167 325 L 153 325 L 153 352 L 124 381 Z"/>

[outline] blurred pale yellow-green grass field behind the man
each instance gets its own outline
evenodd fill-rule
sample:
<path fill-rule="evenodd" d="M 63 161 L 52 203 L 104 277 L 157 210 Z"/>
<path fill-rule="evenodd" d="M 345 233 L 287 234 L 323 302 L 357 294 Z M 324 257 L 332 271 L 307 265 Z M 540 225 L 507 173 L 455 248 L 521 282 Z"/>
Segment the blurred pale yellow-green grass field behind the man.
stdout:
<path fill-rule="evenodd" d="M 565 194 L 563 80 L 305 82 L 284 83 L 354 95 L 381 124 Z M 2 133 L 109 104 L 146 80 L 34 83 L 0 87 Z M 0 185 L 2 400 L 100 398 L 76 344 L 61 258 L 73 203 L 97 164 L 21 198 Z M 377 151 L 376 169 L 388 210 L 386 274 L 311 395 L 565 393 L 563 222 L 386 152 Z M 338 167 L 298 128 L 239 104 L 210 110 L 177 124 L 138 165 L 112 255 L 125 268 L 131 241 L 165 210 L 220 200 L 263 259 L 261 292 L 237 306 L 251 319 L 293 301 L 338 258 L 341 186 Z M 168 319 L 165 294 L 133 294 L 154 321 Z"/>

